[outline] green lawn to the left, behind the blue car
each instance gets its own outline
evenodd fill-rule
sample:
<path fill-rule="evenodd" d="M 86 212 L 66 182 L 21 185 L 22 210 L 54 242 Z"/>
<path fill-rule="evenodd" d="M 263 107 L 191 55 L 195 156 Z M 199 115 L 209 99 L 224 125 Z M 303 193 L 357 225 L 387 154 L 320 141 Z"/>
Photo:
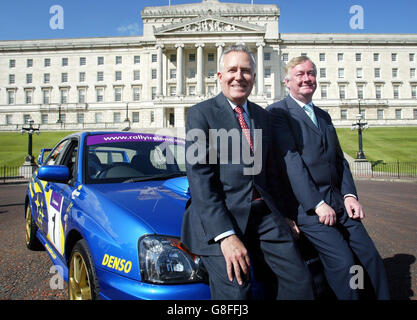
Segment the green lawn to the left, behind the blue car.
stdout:
<path fill-rule="evenodd" d="M 71 132 L 41 132 L 32 136 L 32 154 L 35 159 L 42 148 L 52 148 L 58 141 Z M 28 151 L 28 135 L 18 132 L 0 133 L 0 167 L 20 166 L 25 162 Z"/>

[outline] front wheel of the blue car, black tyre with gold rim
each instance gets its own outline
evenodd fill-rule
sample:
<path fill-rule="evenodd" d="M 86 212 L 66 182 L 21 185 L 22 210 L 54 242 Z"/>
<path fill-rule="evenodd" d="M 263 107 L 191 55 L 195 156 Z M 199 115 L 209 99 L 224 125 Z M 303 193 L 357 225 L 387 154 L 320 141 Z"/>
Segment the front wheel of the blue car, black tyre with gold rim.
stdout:
<path fill-rule="evenodd" d="M 68 271 L 68 296 L 71 300 L 96 300 L 99 285 L 93 259 L 84 239 L 71 252 Z"/>

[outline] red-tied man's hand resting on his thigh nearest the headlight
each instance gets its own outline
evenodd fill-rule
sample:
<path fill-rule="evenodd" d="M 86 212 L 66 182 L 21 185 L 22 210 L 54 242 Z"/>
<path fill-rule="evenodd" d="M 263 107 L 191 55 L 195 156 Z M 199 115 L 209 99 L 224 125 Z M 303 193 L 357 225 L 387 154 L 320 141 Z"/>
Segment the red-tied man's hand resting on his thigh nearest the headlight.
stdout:
<path fill-rule="evenodd" d="M 236 235 L 231 235 L 221 240 L 220 248 L 226 260 L 227 276 L 233 281 L 233 274 L 236 276 L 237 283 L 243 284 L 241 272 L 248 278 L 250 260 L 248 251 L 244 244 Z"/>

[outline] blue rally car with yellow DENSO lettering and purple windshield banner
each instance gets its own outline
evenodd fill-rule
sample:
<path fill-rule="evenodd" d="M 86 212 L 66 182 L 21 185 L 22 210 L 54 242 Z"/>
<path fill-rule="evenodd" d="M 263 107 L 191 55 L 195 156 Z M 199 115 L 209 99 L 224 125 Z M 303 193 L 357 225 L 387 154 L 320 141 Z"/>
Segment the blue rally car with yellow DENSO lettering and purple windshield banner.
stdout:
<path fill-rule="evenodd" d="M 25 201 L 27 247 L 46 249 L 70 299 L 209 299 L 199 257 L 179 240 L 184 161 L 184 140 L 131 132 L 43 149 Z"/>

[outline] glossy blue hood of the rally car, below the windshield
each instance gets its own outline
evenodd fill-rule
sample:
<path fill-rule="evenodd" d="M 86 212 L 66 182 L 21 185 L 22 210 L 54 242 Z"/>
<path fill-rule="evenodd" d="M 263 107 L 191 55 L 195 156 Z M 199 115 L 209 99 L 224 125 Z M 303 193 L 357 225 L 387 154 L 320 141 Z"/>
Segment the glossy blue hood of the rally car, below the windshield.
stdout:
<path fill-rule="evenodd" d="M 137 216 L 157 234 L 180 236 L 189 199 L 186 177 L 165 181 L 89 185 L 129 214 Z"/>

